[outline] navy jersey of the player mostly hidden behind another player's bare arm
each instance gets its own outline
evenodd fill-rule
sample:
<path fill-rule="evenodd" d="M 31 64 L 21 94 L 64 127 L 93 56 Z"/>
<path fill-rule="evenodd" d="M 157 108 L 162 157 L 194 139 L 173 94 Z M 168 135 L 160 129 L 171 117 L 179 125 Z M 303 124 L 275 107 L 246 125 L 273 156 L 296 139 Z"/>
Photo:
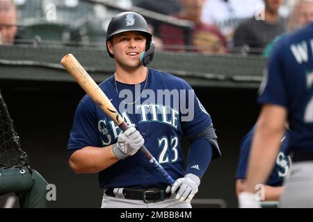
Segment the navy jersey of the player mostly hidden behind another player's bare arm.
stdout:
<path fill-rule="evenodd" d="M 256 125 L 250 130 L 250 132 L 243 137 L 240 147 L 239 164 L 237 167 L 237 172 L 235 178 L 246 178 L 246 171 L 249 159 L 250 148 L 252 144 L 252 137 L 255 133 Z M 269 176 L 266 185 L 270 186 L 282 186 L 284 177 L 287 175 L 290 167 L 290 157 L 287 154 L 287 147 L 289 142 L 289 130 L 286 130 L 284 137 L 282 138 L 282 143 L 280 146 L 280 153 L 275 161 L 275 166 Z"/>

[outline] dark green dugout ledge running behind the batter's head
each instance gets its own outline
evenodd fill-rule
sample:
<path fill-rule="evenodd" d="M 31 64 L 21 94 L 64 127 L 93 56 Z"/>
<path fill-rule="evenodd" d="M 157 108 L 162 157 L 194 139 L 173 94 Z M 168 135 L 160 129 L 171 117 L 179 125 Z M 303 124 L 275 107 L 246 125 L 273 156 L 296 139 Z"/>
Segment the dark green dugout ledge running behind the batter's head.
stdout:
<path fill-rule="evenodd" d="M 0 80 L 73 82 L 60 65 L 67 53 L 73 53 L 97 82 L 114 72 L 113 60 L 104 47 L 19 44 L 0 46 Z M 266 58 L 157 52 L 150 67 L 180 76 L 195 87 L 257 88 Z"/>

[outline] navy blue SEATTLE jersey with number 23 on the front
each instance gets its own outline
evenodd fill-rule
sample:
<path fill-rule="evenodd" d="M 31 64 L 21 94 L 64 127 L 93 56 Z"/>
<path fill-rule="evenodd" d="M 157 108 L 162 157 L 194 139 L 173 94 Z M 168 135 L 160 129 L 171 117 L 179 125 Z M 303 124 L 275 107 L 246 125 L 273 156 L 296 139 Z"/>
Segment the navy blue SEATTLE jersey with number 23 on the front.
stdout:
<path fill-rule="evenodd" d="M 145 82 L 141 83 L 141 90 L 139 90 L 139 95 L 143 87 L 147 91 L 147 93 L 143 91 L 140 104 L 127 105 L 123 102 L 127 96 L 119 98 L 119 94 L 124 92 L 123 89 L 134 91 L 134 85 L 116 83 L 118 94 L 113 76 L 101 83 L 99 87 L 111 99 L 111 103 L 120 112 L 125 122 L 129 125 L 136 124 L 136 128 L 145 139 L 145 147 L 176 180 L 184 177 L 186 171 L 181 149 L 182 136 L 189 137 L 200 133 L 211 125 L 211 117 L 195 94 L 188 94 L 191 87 L 186 81 L 154 69 L 148 69 L 148 71 L 147 85 L 145 86 Z M 152 98 L 153 95 L 150 93 L 154 92 L 157 95 L 160 93 L 160 89 L 173 90 L 170 103 L 166 103 L 166 96 L 163 96 L 163 101 L 160 100 L 160 96 L 157 96 L 155 100 Z M 186 100 L 182 100 L 182 95 L 175 94 L 174 89 L 186 89 Z M 193 90 L 191 91 L 193 92 Z M 129 101 L 136 101 L 136 98 L 139 97 L 135 94 Z M 188 107 L 189 101 L 195 101 L 191 103 L 194 117 L 189 121 L 182 121 L 186 117 L 188 119 L 187 111 L 191 108 Z M 179 102 L 178 106 L 175 104 L 177 102 Z M 119 133 L 120 128 L 86 95 L 75 112 L 74 124 L 67 146 L 68 157 L 73 151 L 85 146 L 102 147 L 115 144 Z M 102 188 L 141 189 L 167 186 L 161 174 L 152 167 L 141 151 L 99 172 L 99 183 Z"/>

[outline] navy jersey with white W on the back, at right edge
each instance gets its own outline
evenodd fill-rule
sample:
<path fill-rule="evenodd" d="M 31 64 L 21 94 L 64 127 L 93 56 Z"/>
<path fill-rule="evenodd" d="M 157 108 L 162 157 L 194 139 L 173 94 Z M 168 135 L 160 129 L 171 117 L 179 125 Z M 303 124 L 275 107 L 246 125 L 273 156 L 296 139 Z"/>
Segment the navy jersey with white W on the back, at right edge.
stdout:
<path fill-rule="evenodd" d="M 289 151 L 313 152 L 313 24 L 275 44 L 260 103 L 288 110 Z"/>

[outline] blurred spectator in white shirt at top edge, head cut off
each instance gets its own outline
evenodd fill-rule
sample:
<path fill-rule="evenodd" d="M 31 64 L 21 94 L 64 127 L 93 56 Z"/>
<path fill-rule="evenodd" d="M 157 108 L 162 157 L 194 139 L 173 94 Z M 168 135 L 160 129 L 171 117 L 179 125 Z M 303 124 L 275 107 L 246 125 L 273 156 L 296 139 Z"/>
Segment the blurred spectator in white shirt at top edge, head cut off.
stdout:
<path fill-rule="evenodd" d="M 220 28 L 227 40 L 232 40 L 239 22 L 254 16 L 263 8 L 263 0 L 206 0 L 201 19 L 206 24 Z"/>

